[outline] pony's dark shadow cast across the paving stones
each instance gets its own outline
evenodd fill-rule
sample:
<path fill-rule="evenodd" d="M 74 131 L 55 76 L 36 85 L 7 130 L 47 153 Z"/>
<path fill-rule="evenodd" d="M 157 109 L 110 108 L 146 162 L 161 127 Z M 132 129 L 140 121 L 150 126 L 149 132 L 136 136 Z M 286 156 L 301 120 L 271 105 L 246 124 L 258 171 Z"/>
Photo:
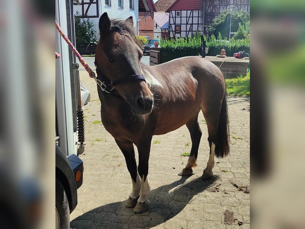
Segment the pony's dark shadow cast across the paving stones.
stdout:
<path fill-rule="evenodd" d="M 194 195 L 211 187 L 218 176 L 213 176 L 210 180 L 201 180 L 199 177 L 191 182 L 185 182 L 188 178 L 189 176 L 183 176 L 178 181 L 151 190 L 150 209 L 144 213 L 136 214 L 132 208 L 126 208 L 125 201 L 115 202 L 78 216 L 70 223 L 70 227 L 124 229 L 157 226 L 180 213 Z"/>

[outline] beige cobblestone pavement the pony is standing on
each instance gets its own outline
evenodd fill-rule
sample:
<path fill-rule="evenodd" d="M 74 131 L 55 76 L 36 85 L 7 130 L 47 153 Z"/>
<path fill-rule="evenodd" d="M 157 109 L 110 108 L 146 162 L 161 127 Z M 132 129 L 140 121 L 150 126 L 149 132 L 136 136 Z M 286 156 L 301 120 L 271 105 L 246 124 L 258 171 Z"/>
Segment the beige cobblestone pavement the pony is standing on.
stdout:
<path fill-rule="evenodd" d="M 81 69 L 81 81 L 91 91 L 91 100 L 98 99 L 95 81 L 84 69 Z M 200 180 L 209 158 L 208 133 L 202 113 L 199 115 L 203 133 L 197 159 L 199 166 L 192 176 L 178 176 L 188 160 L 180 154 L 190 152 L 192 144 L 186 126 L 153 136 L 148 175 L 150 209 L 135 214 L 124 206 L 132 189 L 124 156 L 99 122 L 100 101 L 89 102 L 84 108 L 86 148 L 81 155 L 84 181 L 77 191 L 78 205 L 70 216 L 70 227 L 249 228 L 250 194 L 239 191 L 229 182 L 232 179 L 238 185 L 250 183 L 249 106 L 249 98 L 229 97 L 231 153 L 224 159 L 215 158 L 211 180 Z M 154 144 L 156 140 L 160 143 Z M 218 191 L 207 190 L 219 184 Z M 232 224 L 224 221 L 226 210 L 232 211 L 237 219 Z M 238 221 L 243 225 L 239 226 Z"/>

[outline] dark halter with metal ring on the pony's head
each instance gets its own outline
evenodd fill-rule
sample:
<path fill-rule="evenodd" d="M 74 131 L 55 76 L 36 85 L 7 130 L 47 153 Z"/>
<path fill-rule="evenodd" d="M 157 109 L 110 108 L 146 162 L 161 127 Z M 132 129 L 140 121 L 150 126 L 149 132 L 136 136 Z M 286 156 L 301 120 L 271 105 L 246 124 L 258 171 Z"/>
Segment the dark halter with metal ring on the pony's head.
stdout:
<path fill-rule="evenodd" d="M 96 73 L 97 73 L 97 78 L 95 79 L 96 83 L 99 85 L 99 88 L 107 93 L 111 93 L 111 91 L 115 88 L 116 85 L 118 84 L 123 84 L 123 83 L 128 83 L 132 82 L 135 80 L 145 80 L 145 77 L 143 75 L 131 75 L 116 81 L 111 81 L 104 75 L 101 71 L 99 71 L 97 64 L 94 62 L 95 67 L 96 67 Z"/>

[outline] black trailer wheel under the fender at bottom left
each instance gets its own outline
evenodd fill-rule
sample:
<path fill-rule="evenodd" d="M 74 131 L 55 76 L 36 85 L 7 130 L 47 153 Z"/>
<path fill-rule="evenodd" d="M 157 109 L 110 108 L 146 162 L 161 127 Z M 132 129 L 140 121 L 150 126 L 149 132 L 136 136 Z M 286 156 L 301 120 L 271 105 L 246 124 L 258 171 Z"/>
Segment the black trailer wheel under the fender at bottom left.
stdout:
<path fill-rule="evenodd" d="M 55 222 L 56 229 L 69 229 L 70 228 L 70 208 L 67 194 L 63 185 L 56 178 L 55 183 Z"/>

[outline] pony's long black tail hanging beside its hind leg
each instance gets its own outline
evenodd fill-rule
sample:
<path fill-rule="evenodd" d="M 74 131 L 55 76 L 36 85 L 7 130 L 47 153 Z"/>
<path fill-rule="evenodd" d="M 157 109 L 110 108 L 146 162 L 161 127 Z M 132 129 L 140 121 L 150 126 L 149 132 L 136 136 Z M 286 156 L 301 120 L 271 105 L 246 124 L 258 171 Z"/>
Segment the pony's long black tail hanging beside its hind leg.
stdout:
<path fill-rule="evenodd" d="M 227 106 L 227 90 L 224 93 L 221 110 L 218 121 L 218 138 L 215 146 L 215 155 L 217 158 L 223 158 L 230 153 L 230 126 Z"/>

